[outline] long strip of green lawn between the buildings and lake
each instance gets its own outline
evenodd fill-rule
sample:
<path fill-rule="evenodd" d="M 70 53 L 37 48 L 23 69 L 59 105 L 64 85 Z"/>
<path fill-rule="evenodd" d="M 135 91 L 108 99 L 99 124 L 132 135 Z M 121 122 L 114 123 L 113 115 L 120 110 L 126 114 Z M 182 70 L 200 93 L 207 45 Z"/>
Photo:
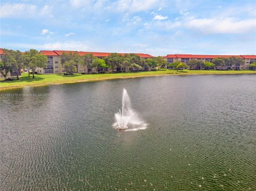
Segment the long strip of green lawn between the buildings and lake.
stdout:
<path fill-rule="evenodd" d="M 146 72 L 125 72 L 125 73 L 103 73 L 103 74 L 79 74 L 73 76 L 63 76 L 63 74 L 35 74 L 35 79 L 29 78 L 28 73 L 22 73 L 20 80 L 0 81 L 0 90 L 10 88 L 20 88 L 25 86 L 42 86 L 53 84 L 66 84 L 82 81 L 97 81 L 117 78 L 135 78 L 143 76 L 162 76 L 162 75 L 189 75 L 189 74 L 256 74 L 251 70 L 157 70 Z M 32 76 L 32 74 L 30 75 Z"/>

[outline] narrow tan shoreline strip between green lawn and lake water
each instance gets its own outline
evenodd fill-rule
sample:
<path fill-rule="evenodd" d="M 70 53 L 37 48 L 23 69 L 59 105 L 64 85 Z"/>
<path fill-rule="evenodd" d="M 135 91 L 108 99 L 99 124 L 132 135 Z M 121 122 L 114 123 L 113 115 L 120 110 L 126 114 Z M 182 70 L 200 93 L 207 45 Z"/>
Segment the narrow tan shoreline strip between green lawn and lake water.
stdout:
<path fill-rule="evenodd" d="M 165 70 L 168 72 L 168 70 Z M 136 74 L 136 73 L 135 73 Z M 50 86 L 50 85 L 61 85 L 61 84 L 74 84 L 74 83 L 79 83 L 79 82 L 93 82 L 93 81 L 105 81 L 105 80 L 115 80 L 115 79 L 129 79 L 129 78 L 142 78 L 142 77 L 156 77 L 156 76 L 199 76 L 199 75 L 238 75 L 238 74 L 256 74 L 256 71 L 250 71 L 250 72 L 223 72 L 223 73 L 189 73 L 189 72 L 184 72 L 184 73 L 162 73 L 162 74 L 147 74 L 145 73 L 144 75 L 134 75 L 134 76 L 114 76 L 114 77 L 103 77 L 103 78 L 91 78 L 91 79 L 77 79 L 77 80 L 70 80 L 70 81 L 56 81 L 56 82 L 43 82 L 39 84 L 30 84 L 30 85 L 18 85 L 18 86 L 11 86 L 11 87 L 2 87 L 0 82 L 0 92 L 5 91 L 5 90 L 10 90 L 10 89 L 19 89 L 19 88 L 24 88 L 24 87 L 38 87 L 38 86 Z M 42 74 L 45 75 L 45 74 Z M 49 74 L 49 75 L 54 75 L 54 74 Z M 84 74 L 83 74 L 84 75 Z M 85 74 L 85 75 L 90 75 L 90 74 Z M 103 74 L 104 75 L 104 74 Z M 19 82 L 19 81 L 18 81 Z"/>

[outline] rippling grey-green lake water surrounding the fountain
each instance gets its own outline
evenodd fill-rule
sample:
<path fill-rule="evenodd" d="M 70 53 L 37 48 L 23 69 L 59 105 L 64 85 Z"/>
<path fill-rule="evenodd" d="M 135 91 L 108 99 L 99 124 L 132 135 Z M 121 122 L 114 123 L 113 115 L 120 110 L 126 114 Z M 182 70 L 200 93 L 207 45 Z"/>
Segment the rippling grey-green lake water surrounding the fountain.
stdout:
<path fill-rule="evenodd" d="M 113 128 L 124 87 L 144 130 Z M 27 96 L 1 97 L 1 190 L 256 190 L 256 75 L 7 93 Z"/>

